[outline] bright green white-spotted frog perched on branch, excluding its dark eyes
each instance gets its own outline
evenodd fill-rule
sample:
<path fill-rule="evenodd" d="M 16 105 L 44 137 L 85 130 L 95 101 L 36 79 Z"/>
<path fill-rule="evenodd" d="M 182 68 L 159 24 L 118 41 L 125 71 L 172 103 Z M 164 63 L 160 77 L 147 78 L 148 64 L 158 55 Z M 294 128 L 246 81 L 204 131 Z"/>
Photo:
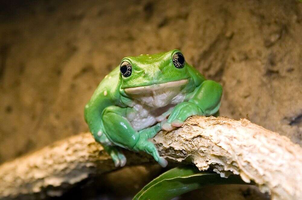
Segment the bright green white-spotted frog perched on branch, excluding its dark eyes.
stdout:
<path fill-rule="evenodd" d="M 124 166 L 126 163 L 126 157 L 117 148 L 119 146 L 132 151 L 145 151 L 165 167 L 167 161 L 159 156 L 156 147 L 149 139 L 160 130 L 169 131 L 181 126 L 190 116 L 210 116 L 219 110 L 221 85 L 206 80 L 187 62 L 183 68 L 176 68 L 173 56 L 178 52 L 180 51 L 172 50 L 122 59 L 121 63 L 126 61 L 132 66 L 131 75 L 124 77 L 120 72 L 120 66 L 115 68 L 101 81 L 85 106 L 85 121 L 95 140 L 111 155 L 115 166 Z M 165 91 L 164 98 L 157 98 L 156 94 L 161 94 L 160 90 Z M 178 100 L 180 102 L 175 100 L 174 91 L 178 91 L 177 94 L 182 97 Z M 142 102 L 141 97 L 154 100 L 157 107 L 144 105 L 147 103 Z M 157 109 L 157 111 L 164 110 L 164 107 L 170 104 L 170 109 L 160 113 L 156 117 L 157 122 L 149 127 L 133 128 L 129 116 L 139 112 L 135 109 L 135 105 L 139 104 L 147 107 L 147 110 Z M 149 121 L 141 121 L 139 124 L 152 122 L 154 118 L 151 113 L 142 117 Z"/>

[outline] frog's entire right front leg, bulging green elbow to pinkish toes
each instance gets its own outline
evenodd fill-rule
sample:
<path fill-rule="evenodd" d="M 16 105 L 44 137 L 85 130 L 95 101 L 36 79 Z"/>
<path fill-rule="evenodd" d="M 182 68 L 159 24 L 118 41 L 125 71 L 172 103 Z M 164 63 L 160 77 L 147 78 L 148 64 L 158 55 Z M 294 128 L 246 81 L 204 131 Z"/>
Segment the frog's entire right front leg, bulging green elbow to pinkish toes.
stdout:
<path fill-rule="evenodd" d="M 171 131 L 174 127 L 182 126 L 190 116 L 210 116 L 217 113 L 221 96 L 222 87 L 219 83 L 211 80 L 204 81 L 193 98 L 174 107 L 168 120 L 163 123 L 162 129 Z"/>

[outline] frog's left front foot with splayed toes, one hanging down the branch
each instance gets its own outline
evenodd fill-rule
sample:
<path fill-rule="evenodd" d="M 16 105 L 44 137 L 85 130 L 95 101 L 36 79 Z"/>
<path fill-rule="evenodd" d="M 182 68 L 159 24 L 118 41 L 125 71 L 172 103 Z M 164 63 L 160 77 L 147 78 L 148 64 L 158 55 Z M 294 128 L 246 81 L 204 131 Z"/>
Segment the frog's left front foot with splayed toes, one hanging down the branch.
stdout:
<path fill-rule="evenodd" d="M 133 147 L 133 150 L 145 151 L 147 154 L 152 155 L 154 160 L 156 160 L 162 167 L 166 167 L 168 165 L 168 161 L 159 156 L 155 145 L 148 140 L 149 138 L 153 138 L 160 131 L 160 129 L 160 124 L 156 124 L 150 128 L 140 131 L 140 138 Z"/>

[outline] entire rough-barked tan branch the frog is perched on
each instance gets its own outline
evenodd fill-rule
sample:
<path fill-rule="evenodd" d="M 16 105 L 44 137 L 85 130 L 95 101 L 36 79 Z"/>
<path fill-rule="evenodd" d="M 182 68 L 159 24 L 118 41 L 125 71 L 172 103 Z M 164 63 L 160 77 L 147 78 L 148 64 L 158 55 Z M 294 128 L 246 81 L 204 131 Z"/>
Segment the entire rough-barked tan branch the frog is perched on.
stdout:
<path fill-rule="evenodd" d="M 211 167 L 223 177 L 240 174 L 274 200 L 302 198 L 302 148 L 246 119 L 194 116 L 182 128 L 159 132 L 152 141 L 169 161 L 194 163 L 200 170 Z M 149 161 L 126 153 L 128 165 Z M 0 197 L 61 195 L 89 176 L 114 169 L 101 145 L 83 133 L 2 164 Z"/>

